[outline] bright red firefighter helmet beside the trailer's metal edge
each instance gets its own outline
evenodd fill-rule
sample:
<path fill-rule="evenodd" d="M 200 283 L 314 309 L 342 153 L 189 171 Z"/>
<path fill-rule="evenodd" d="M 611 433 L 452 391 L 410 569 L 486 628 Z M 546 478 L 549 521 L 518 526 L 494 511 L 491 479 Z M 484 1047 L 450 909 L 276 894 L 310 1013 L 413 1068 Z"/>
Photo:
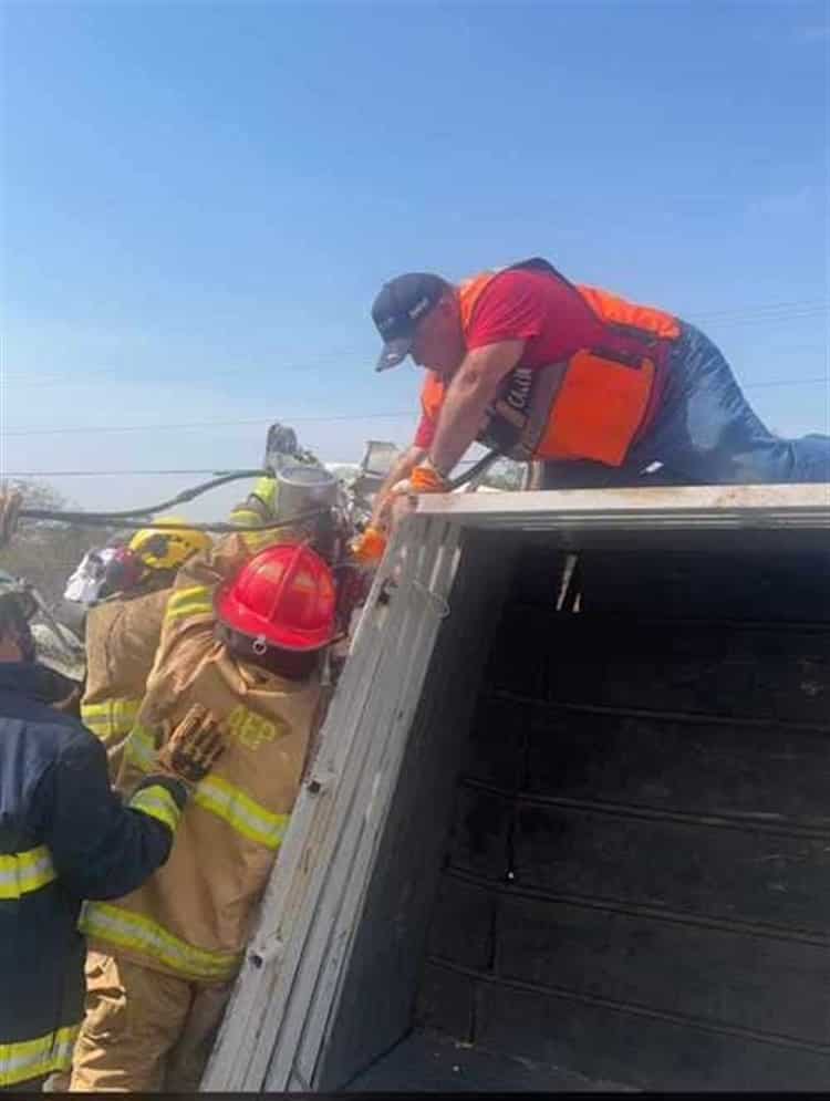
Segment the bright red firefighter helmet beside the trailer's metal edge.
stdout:
<path fill-rule="evenodd" d="M 334 636 L 336 592 L 325 562 L 303 544 L 268 547 L 216 595 L 231 631 L 280 650 L 321 650 Z"/>

